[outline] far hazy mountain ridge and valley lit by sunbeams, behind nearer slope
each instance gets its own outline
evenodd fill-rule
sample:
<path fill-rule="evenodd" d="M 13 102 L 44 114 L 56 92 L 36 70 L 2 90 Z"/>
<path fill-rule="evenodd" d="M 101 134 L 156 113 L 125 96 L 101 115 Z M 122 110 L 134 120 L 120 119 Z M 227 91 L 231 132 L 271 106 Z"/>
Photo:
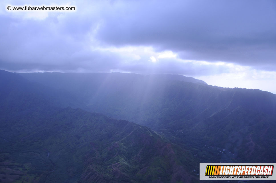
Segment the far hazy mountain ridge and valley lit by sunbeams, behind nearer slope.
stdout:
<path fill-rule="evenodd" d="M 80 106 L 84 110 L 153 128 L 170 141 L 190 148 L 200 161 L 206 161 L 207 154 L 215 162 L 276 160 L 275 94 L 164 79 L 160 75 L 21 75 L 74 94 L 84 101 Z M 220 150 L 213 152 L 207 146 Z M 222 149 L 228 151 L 228 156 L 220 152 Z"/>

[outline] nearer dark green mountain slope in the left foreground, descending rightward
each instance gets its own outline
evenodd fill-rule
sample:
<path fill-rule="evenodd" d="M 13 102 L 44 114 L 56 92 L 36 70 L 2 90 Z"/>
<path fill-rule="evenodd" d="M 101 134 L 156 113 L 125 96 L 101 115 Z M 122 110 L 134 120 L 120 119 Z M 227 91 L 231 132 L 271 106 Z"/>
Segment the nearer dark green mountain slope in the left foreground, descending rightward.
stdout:
<path fill-rule="evenodd" d="M 196 180 L 192 155 L 155 131 L 79 108 L 61 109 L 51 101 L 52 89 L 0 73 L 2 182 Z"/>

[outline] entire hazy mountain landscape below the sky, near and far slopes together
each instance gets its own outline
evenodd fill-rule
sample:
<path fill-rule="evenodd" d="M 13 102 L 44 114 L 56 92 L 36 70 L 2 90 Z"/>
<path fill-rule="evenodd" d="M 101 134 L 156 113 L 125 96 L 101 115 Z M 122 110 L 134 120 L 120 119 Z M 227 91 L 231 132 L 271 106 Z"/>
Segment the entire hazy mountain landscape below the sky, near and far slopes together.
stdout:
<path fill-rule="evenodd" d="M 10 181 L 191 182 L 199 162 L 276 160 L 269 92 L 181 75 L 0 76 L 0 168 Z"/>

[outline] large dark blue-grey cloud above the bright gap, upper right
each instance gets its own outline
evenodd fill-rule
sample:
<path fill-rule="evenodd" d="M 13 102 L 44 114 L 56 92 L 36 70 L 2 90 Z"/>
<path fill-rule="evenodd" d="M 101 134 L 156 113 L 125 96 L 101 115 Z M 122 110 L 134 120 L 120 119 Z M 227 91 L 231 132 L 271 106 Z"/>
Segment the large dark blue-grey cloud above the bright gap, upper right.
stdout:
<path fill-rule="evenodd" d="M 127 7 L 105 19 L 99 39 L 172 50 L 182 59 L 276 69 L 276 1 L 145 1 Z"/>

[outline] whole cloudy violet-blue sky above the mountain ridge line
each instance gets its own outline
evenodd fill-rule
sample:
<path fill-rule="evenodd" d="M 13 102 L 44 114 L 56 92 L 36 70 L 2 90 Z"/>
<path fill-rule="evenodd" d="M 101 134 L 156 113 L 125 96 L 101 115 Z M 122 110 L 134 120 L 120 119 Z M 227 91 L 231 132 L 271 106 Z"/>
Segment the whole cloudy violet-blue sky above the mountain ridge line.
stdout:
<path fill-rule="evenodd" d="M 3 70 L 170 73 L 276 94 L 273 0 L 2 0 L 0 7 Z"/>

